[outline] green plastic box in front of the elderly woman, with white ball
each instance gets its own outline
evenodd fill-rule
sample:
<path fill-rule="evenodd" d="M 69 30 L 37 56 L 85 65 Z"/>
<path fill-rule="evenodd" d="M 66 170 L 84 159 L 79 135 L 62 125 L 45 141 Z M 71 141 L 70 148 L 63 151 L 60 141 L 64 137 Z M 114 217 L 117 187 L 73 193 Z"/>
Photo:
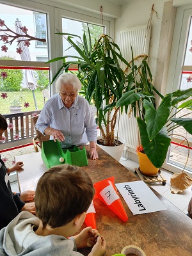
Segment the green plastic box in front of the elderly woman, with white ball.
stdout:
<path fill-rule="evenodd" d="M 60 157 L 63 157 L 63 163 L 60 163 Z M 62 149 L 58 140 L 56 142 L 48 140 L 42 143 L 42 159 L 47 169 L 58 164 L 88 165 L 85 147 L 82 150 L 76 146 Z"/>

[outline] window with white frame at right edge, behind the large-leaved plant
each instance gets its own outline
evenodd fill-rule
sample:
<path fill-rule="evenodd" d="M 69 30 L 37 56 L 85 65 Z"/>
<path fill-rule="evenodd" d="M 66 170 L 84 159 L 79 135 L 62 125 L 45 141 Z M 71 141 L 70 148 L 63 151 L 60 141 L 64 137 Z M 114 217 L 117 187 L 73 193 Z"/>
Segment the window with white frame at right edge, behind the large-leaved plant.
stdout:
<path fill-rule="evenodd" d="M 192 6 L 191 8 L 188 6 L 188 8 L 178 9 L 168 74 L 168 92 L 192 88 Z M 191 110 L 180 111 L 177 117 L 185 117 L 186 115 L 188 118 L 192 118 Z M 178 172 L 184 168 L 188 158 L 188 143 L 186 143 L 185 138 L 188 140 L 190 147 L 188 164 L 185 170 L 192 173 L 192 135 L 182 127 L 175 129 L 173 132 L 172 145 L 164 168 L 178 170 Z"/>

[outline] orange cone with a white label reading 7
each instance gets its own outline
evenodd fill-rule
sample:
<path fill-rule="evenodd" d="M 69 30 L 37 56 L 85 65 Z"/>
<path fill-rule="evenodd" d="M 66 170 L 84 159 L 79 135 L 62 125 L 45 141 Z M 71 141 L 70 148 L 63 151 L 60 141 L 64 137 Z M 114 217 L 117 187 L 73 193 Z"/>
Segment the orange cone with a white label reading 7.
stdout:
<path fill-rule="evenodd" d="M 118 196 L 114 181 L 115 177 L 110 177 L 95 183 L 95 198 L 99 198 L 123 221 L 127 221 L 128 216 Z"/>

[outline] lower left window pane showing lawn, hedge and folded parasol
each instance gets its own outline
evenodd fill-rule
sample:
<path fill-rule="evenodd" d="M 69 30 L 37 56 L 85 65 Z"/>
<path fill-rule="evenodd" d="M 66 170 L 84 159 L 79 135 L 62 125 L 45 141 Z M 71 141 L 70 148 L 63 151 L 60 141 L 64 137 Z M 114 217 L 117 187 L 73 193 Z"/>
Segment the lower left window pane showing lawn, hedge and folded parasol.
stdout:
<path fill-rule="evenodd" d="M 49 98 L 49 70 L 1 69 L 0 113 L 18 113 L 40 110 Z M 44 91 L 45 90 L 45 91 Z M 14 107 L 20 107 L 14 108 Z"/>

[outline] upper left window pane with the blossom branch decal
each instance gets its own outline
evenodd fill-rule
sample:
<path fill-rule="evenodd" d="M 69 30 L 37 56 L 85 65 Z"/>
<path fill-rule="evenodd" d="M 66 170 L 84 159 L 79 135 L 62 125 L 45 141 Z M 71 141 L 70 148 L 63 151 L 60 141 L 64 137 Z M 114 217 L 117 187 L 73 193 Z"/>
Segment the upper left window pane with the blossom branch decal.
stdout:
<path fill-rule="evenodd" d="M 36 56 L 48 58 L 45 13 L 0 4 L 0 19 L 1 25 L 3 25 L 0 31 L 1 56 L 10 56 L 15 60 L 26 61 L 36 61 Z M 4 32 L 4 29 L 8 29 L 8 31 Z M 9 37 L 9 35 L 13 37 Z M 18 35 L 21 36 L 18 37 Z M 36 37 L 39 40 L 34 40 Z M 13 40 L 14 38 L 15 40 Z M 13 42 L 10 45 L 11 40 Z M 19 44 L 18 40 L 21 40 Z"/>

